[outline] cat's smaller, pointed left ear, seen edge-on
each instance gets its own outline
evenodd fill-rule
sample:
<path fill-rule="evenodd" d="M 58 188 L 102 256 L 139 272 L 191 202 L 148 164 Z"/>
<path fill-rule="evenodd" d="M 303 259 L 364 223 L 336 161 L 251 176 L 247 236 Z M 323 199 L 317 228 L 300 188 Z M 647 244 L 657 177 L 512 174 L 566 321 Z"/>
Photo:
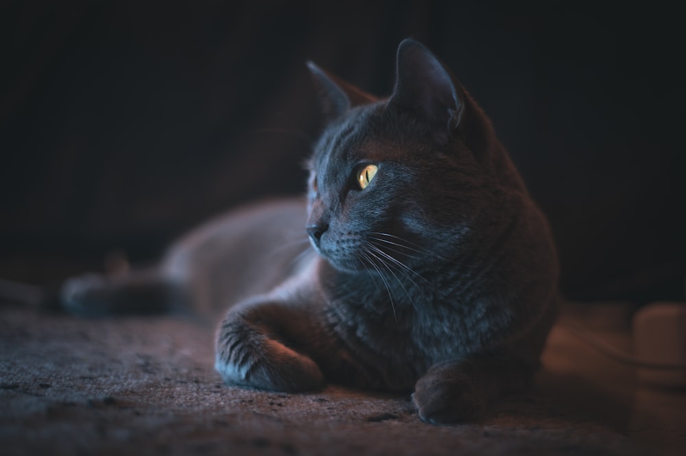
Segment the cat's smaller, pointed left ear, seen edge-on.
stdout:
<path fill-rule="evenodd" d="M 359 88 L 348 84 L 339 77 L 322 70 L 314 62 L 307 62 L 307 68 L 312 73 L 314 82 L 318 88 L 320 103 L 324 115 L 329 120 L 344 115 L 353 106 L 369 104 L 378 101 L 377 97 L 370 95 Z"/>

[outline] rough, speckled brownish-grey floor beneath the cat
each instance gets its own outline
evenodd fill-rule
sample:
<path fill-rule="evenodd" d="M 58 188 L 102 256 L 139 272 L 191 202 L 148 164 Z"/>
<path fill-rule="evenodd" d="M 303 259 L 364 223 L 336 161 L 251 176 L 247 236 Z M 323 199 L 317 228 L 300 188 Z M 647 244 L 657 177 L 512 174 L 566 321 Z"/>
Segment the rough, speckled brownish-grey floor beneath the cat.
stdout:
<path fill-rule="evenodd" d="M 622 322 L 622 309 L 606 319 Z M 622 324 L 591 329 L 627 344 Z M 212 339 L 211 326 L 178 317 L 0 309 L 0 453 L 666 455 L 686 445 L 685 392 L 639 385 L 564 328 L 536 392 L 452 426 L 424 424 L 404 396 L 226 387 Z"/>

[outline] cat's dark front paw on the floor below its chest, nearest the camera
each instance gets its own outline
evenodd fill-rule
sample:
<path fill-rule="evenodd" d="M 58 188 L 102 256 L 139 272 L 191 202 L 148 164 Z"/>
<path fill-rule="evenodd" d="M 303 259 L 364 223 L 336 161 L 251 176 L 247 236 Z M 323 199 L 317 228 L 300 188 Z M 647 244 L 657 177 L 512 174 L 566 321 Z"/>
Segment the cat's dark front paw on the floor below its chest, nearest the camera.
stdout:
<path fill-rule="evenodd" d="M 485 408 L 482 391 L 458 365 L 431 368 L 416 383 L 412 402 L 419 418 L 433 424 L 477 420 Z"/>

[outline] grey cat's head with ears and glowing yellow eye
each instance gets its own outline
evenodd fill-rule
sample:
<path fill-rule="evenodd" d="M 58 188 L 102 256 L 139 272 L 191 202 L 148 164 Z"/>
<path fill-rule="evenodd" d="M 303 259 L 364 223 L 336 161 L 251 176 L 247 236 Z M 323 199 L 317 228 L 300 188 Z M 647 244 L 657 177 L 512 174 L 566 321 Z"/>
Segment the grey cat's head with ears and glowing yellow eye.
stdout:
<path fill-rule="evenodd" d="M 400 276 L 454 256 L 493 199 L 488 119 L 414 40 L 388 99 L 309 67 L 330 119 L 309 163 L 316 250 L 336 269 Z"/>

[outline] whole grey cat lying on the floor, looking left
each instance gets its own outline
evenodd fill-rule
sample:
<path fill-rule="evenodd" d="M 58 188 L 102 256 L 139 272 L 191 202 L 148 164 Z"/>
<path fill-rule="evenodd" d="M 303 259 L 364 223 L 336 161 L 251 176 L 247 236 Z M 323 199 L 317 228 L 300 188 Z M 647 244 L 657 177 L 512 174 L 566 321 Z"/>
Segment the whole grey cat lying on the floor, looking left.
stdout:
<path fill-rule="evenodd" d="M 388 99 L 310 69 L 330 122 L 307 204 L 218 219 L 147 274 L 72 280 L 65 302 L 113 313 L 162 291 L 166 307 L 228 307 L 215 364 L 226 383 L 414 391 L 423 420 L 473 419 L 538 363 L 558 275 L 547 222 L 486 115 L 423 45 L 399 46 Z M 378 172 L 361 189 L 366 164 Z M 314 249 L 301 254 L 306 228 Z"/>

